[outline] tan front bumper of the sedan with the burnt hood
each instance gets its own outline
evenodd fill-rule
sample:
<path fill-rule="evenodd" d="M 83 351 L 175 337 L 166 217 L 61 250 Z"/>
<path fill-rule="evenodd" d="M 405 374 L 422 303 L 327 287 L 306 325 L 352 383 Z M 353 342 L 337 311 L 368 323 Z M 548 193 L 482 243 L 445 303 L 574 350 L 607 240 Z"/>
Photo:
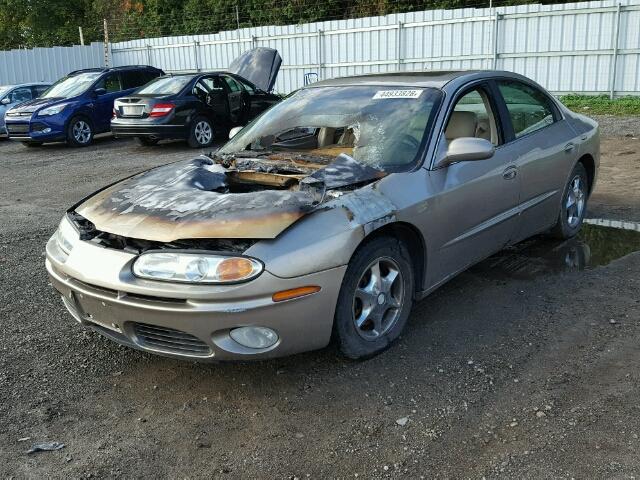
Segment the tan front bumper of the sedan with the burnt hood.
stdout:
<path fill-rule="evenodd" d="M 135 255 L 77 241 L 65 255 L 47 244 L 53 287 L 81 324 L 139 350 L 189 360 L 262 359 L 322 348 L 329 343 L 335 305 L 346 267 L 297 278 L 268 271 L 244 284 L 179 285 L 138 279 Z M 273 293 L 318 285 L 313 295 L 273 302 Z M 240 326 L 263 326 L 279 337 L 266 349 L 231 339 Z"/>

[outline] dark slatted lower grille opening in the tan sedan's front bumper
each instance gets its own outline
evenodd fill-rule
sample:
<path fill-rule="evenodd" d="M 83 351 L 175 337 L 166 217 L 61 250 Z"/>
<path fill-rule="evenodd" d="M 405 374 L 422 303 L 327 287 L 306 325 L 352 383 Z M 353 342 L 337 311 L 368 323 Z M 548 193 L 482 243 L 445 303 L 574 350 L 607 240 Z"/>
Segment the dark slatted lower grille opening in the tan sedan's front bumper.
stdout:
<path fill-rule="evenodd" d="M 182 355 L 207 357 L 211 354 L 209 346 L 193 335 L 173 328 L 135 323 L 133 331 L 138 343 L 143 347 Z"/>

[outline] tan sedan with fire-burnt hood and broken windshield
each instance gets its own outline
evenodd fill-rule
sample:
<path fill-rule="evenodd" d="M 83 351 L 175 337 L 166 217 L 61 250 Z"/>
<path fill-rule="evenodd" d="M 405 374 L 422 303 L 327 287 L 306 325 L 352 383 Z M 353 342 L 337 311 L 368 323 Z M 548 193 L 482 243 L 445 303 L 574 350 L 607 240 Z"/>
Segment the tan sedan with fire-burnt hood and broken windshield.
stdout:
<path fill-rule="evenodd" d="M 388 347 L 411 306 L 534 234 L 581 227 L 597 124 L 508 72 L 326 80 L 221 149 L 98 191 L 46 266 L 83 325 L 196 360 Z"/>

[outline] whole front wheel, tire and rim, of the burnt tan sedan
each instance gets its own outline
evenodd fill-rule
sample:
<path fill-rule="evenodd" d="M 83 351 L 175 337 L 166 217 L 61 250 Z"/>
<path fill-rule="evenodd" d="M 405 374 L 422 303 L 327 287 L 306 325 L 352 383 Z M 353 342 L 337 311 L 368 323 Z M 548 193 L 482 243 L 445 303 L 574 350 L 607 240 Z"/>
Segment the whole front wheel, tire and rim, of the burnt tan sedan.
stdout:
<path fill-rule="evenodd" d="M 340 351 L 363 359 L 402 332 L 413 304 L 414 275 L 406 247 L 392 237 L 362 246 L 347 267 L 334 320 Z"/>

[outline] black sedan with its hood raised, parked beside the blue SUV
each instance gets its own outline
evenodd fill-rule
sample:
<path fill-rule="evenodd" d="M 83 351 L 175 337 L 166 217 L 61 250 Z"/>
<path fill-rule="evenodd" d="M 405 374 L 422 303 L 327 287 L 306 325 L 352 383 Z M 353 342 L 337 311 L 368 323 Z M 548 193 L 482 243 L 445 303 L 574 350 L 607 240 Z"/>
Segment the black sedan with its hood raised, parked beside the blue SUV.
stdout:
<path fill-rule="evenodd" d="M 270 92 L 281 63 L 276 50 L 254 48 L 227 71 L 160 77 L 115 102 L 111 131 L 143 145 L 186 139 L 194 148 L 208 147 L 280 101 Z"/>

